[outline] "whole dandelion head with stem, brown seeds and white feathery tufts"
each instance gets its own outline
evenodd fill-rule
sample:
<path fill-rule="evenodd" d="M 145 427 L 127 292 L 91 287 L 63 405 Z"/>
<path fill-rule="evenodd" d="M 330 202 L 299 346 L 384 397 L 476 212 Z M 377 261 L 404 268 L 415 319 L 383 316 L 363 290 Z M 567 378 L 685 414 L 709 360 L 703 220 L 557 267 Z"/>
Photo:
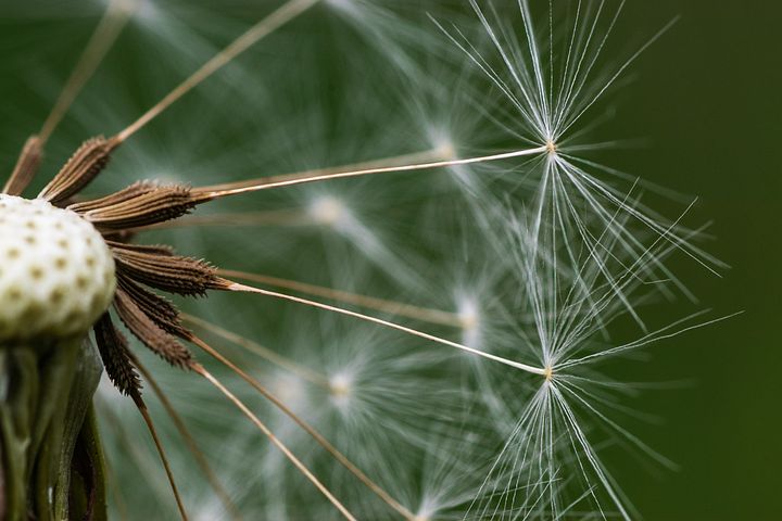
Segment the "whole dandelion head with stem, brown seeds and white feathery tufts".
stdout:
<path fill-rule="evenodd" d="M 714 272 L 722 265 L 694 244 L 702 230 L 682 225 L 686 209 L 663 218 L 641 201 L 638 188 L 651 185 L 619 187 L 625 177 L 582 154 L 606 144 L 583 142 L 585 119 L 667 27 L 618 67 L 602 69 L 622 4 L 610 11 L 605 2 L 577 2 L 567 13 L 551 3 L 541 12 L 526 1 L 469 4 L 467 28 L 464 16 L 441 20 L 453 14 L 441 10 L 428 13 L 431 33 L 365 0 L 288 0 L 212 52 L 180 23 L 198 17 L 197 8 L 109 3 L 0 194 L 0 513 L 91 519 L 104 516 L 109 495 L 118 510 L 137 507 L 124 505 L 116 482 L 127 469 L 112 460 L 128 453 L 150 476 L 155 463 L 117 428 L 125 405 L 99 387 L 103 370 L 140 412 L 182 519 L 240 519 L 244 511 L 415 521 L 634 517 L 601 453 L 627 445 L 671 463 L 614 419 L 631 412 L 617 398 L 630 387 L 598 365 L 719 320 L 696 314 L 655 330 L 640 308 L 673 289 L 693 296 L 667 266 L 670 255 Z M 325 107 L 294 107 L 302 92 L 327 105 L 326 87 L 250 84 L 236 89 L 242 102 L 281 106 L 290 99 L 285 110 L 301 117 L 263 127 L 265 143 L 215 152 L 200 170 L 142 157 L 155 180 L 88 192 L 191 91 L 218 72 L 236 79 L 229 89 L 252 79 L 254 71 L 229 64 L 315 12 L 338 14 L 370 43 L 362 52 L 389 60 L 380 82 L 395 77 L 413 90 L 402 116 L 379 92 L 351 98 L 346 110 L 369 114 L 364 123 L 373 131 L 348 125 L 350 148 L 337 152 L 307 141 L 342 134 L 338 118 Z M 177 51 L 185 62 L 212 56 L 118 131 L 85 141 L 35 199 L 24 199 L 53 132 L 134 22 L 162 42 L 184 35 Z M 421 48 L 434 58 L 421 60 Z M 302 62 L 313 75 L 323 66 L 315 62 Z M 470 86 L 447 96 L 444 109 L 438 100 L 449 86 L 440 73 L 420 80 L 431 62 L 443 75 L 456 67 L 447 77 Z M 230 93 L 211 93 L 230 102 Z M 285 98 L 274 101 L 275 93 Z M 209 151 L 206 120 L 178 125 L 177 142 Z M 409 150 L 411 140 L 395 136 L 408 130 L 422 147 Z M 270 167 L 255 161 L 275 149 L 294 158 Z M 244 179 L 204 177 L 237 165 L 237 156 L 253 160 Z M 257 177 L 262 161 L 269 171 Z M 400 195 L 389 195 L 400 186 Z M 269 206 L 237 213 L 225 203 L 251 194 Z M 373 214 L 378 194 L 388 203 Z M 214 212 L 195 212 L 204 205 Z M 218 268 L 175 251 L 197 237 L 188 233 L 215 227 L 268 231 L 274 240 L 253 232 L 242 245 L 277 262 L 260 272 L 261 254 L 237 250 L 237 265 Z M 144 239 L 152 234 L 164 240 Z M 241 298 L 247 306 L 222 305 Z M 234 327 L 219 323 L 220 315 Z M 609 325 L 623 316 L 640 327 L 636 340 L 613 339 Z M 242 334 L 240 318 L 261 325 L 265 338 Z M 184 371 L 153 366 L 148 354 Z M 155 405 L 148 406 L 151 394 Z M 115 428 L 112 448 L 123 447 L 109 452 L 108 466 L 96 411 Z M 159 428 L 156 412 L 171 419 L 182 450 L 171 450 L 173 432 Z M 198 423 L 211 427 L 194 434 Z M 258 433 L 268 442 L 263 448 Z M 174 463 L 185 450 L 205 494 L 181 485 Z M 217 460 L 238 468 L 214 468 Z M 161 505 L 172 503 L 160 480 L 149 482 Z"/>

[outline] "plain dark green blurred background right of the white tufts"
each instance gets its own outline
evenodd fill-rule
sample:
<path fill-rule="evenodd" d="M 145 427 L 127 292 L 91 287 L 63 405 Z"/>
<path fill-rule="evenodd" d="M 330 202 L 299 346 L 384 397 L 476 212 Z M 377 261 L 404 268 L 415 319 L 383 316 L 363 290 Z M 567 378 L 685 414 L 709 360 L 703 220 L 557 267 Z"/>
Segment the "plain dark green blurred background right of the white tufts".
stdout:
<path fill-rule="evenodd" d="M 633 11 L 642 25 L 643 9 Z M 648 136 L 652 147 L 627 161 L 641 176 L 699 195 L 698 213 L 715 221 L 709 251 L 732 269 L 702 280 L 696 293 L 721 313 L 745 313 L 655 351 L 660 374 L 692 379 L 639 405 L 666 418 L 654 445 L 682 469 L 634 480 L 630 494 L 648 519 L 774 519 L 782 511 L 782 68 L 774 65 L 782 43 L 771 26 L 782 7 L 661 1 L 654 11 L 682 17 L 635 68 L 622 128 Z"/>

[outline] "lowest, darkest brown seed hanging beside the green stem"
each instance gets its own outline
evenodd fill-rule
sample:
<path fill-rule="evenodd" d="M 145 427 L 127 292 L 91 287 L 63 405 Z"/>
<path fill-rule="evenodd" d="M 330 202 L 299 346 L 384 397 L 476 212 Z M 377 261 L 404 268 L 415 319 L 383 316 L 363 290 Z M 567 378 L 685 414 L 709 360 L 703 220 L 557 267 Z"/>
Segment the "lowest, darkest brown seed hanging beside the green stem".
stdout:
<path fill-rule="evenodd" d="M 126 396 L 140 396 L 141 382 L 136 372 L 134 356 L 128 348 L 127 339 L 114 327 L 109 312 L 98 319 L 93 331 L 103 367 L 114 386 Z"/>

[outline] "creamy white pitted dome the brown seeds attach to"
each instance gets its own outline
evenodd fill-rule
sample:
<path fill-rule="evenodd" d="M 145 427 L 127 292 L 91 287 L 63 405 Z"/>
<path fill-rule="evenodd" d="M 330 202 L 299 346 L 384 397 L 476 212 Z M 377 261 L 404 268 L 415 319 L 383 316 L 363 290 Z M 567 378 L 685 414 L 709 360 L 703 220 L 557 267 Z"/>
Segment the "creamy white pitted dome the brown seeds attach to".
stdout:
<path fill-rule="evenodd" d="M 91 224 L 0 194 L 0 343 L 84 334 L 115 285 L 111 251 Z"/>

